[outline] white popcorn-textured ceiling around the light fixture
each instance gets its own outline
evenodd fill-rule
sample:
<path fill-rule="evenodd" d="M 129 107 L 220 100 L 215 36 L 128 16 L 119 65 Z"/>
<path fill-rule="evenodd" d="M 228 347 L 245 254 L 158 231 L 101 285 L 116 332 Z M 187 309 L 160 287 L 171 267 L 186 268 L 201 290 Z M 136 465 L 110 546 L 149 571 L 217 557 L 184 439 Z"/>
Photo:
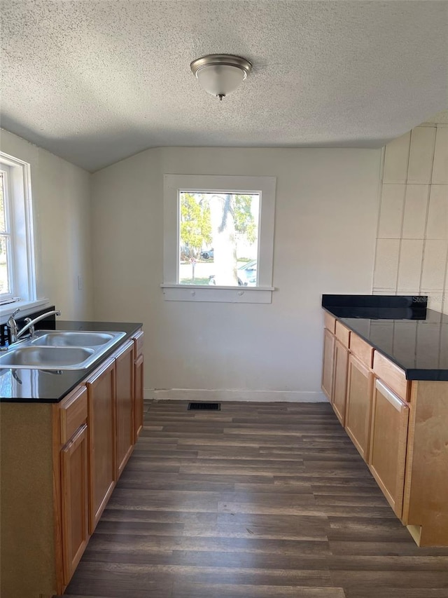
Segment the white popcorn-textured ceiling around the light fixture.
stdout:
<path fill-rule="evenodd" d="M 380 147 L 446 109 L 446 1 L 1 0 L 1 125 L 97 170 L 157 146 Z M 235 53 L 219 102 L 190 72 Z"/>

